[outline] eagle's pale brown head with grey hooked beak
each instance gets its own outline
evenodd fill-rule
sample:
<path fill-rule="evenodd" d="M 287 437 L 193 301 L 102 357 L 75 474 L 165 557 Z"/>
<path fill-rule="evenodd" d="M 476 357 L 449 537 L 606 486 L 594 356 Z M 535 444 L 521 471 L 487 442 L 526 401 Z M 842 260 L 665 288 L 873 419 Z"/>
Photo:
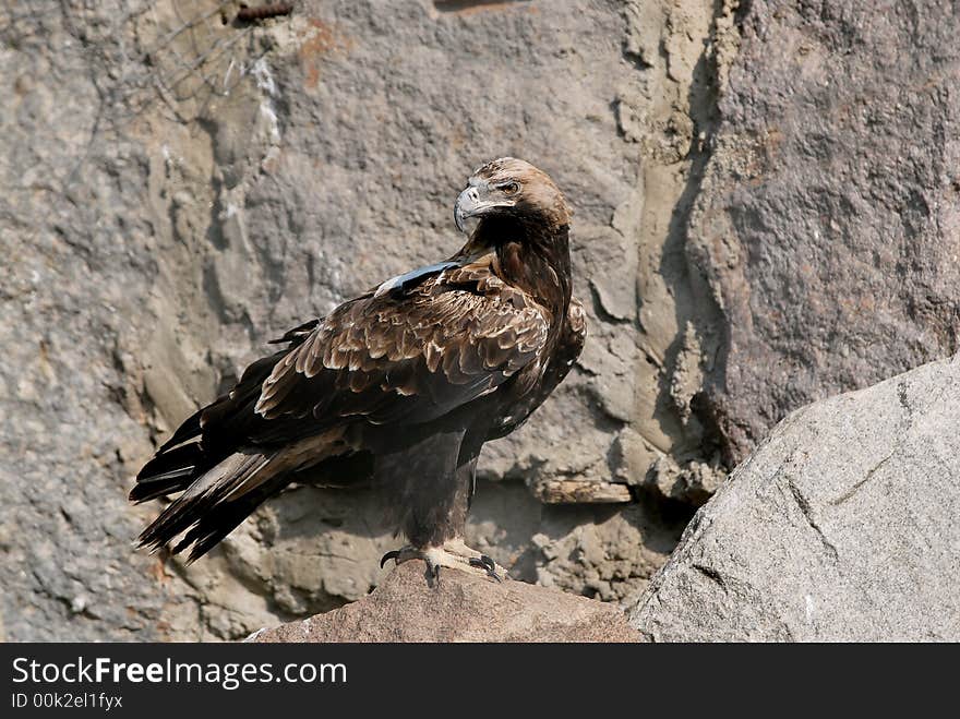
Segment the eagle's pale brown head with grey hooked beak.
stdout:
<path fill-rule="evenodd" d="M 559 229 L 569 225 L 572 214 L 545 172 L 514 157 L 501 157 L 478 168 L 454 207 L 457 229 L 468 236 L 487 217 L 511 217 Z"/>

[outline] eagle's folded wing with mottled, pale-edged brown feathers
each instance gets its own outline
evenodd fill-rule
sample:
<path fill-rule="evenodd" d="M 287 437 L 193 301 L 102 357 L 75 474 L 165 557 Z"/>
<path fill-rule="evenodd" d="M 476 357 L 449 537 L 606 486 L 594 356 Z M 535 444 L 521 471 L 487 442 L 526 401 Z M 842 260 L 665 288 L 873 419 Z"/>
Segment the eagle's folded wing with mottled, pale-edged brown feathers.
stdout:
<path fill-rule="evenodd" d="M 347 302 L 264 381 L 254 442 L 290 420 L 316 431 L 346 418 L 436 419 L 495 390 L 541 356 L 550 317 L 482 263 L 443 267 Z M 307 422 L 304 422 L 307 420 Z"/>

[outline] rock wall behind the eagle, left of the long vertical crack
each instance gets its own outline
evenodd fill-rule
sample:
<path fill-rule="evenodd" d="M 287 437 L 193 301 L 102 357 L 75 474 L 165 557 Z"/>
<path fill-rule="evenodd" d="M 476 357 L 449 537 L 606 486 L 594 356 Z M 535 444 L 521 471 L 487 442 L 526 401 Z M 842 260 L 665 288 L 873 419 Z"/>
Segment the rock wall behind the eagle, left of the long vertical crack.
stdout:
<path fill-rule="evenodd" d="M 188 567 L 132 552 L 157 506 L 124 495 L 266 339 L 456 249 L 458 189 L 506 154 L 575 207 L 590 340 L 556 396 L 484 451 L 468 539 L 521 579 L 633 602 L 722 477 L 689 409 L 694 317 L 710 308 L 683 245 L 729 12 L 236 12 L 0 11 L 0 634 L 235 638 L 375 586 L 397 541 L 375 496 L 295 489 Z"/>

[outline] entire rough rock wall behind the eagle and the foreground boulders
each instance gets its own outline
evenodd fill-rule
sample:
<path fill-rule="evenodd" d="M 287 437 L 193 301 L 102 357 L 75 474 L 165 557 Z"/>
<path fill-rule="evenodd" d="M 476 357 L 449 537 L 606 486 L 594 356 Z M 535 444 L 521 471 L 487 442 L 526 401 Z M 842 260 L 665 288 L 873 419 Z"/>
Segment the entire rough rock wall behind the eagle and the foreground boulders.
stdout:
<path fill-rule="evenodd" d="M 584 357 L 469 541 L 632 606 L 787 412 L 957 348 L 956 3 L 0 9 L 0 635 L 237 638 L 367 595 L 376 498 L 131 552 L 157 442 L 264 343 L 456 249 L 482 160 L 575 209 Z M 724 465 L 725 463 L 725 465 Z"/>

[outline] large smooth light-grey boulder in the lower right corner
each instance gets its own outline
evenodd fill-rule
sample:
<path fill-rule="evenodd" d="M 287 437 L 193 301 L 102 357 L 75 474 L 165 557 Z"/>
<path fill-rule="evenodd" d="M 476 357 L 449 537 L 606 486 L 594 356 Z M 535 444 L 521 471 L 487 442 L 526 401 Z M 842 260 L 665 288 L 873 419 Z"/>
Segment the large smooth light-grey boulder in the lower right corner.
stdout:
<path fill-rule="evenodd" d="M 784 419 L 631 614 L 657 642 L 960 639 L 960 355 Z"/>

